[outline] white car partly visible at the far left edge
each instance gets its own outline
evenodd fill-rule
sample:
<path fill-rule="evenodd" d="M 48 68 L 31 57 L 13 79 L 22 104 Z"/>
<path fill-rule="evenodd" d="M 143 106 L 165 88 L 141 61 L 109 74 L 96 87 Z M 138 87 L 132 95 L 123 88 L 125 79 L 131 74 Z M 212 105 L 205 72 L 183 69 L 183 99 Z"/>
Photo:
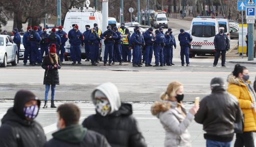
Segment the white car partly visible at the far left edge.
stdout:
<path fill-rule="evenodd" d="M 6 67 L 7 63 L 16 66 L 18 63 L 18 47 L 8 35 L 0 35 L 0 65 Z"/>

